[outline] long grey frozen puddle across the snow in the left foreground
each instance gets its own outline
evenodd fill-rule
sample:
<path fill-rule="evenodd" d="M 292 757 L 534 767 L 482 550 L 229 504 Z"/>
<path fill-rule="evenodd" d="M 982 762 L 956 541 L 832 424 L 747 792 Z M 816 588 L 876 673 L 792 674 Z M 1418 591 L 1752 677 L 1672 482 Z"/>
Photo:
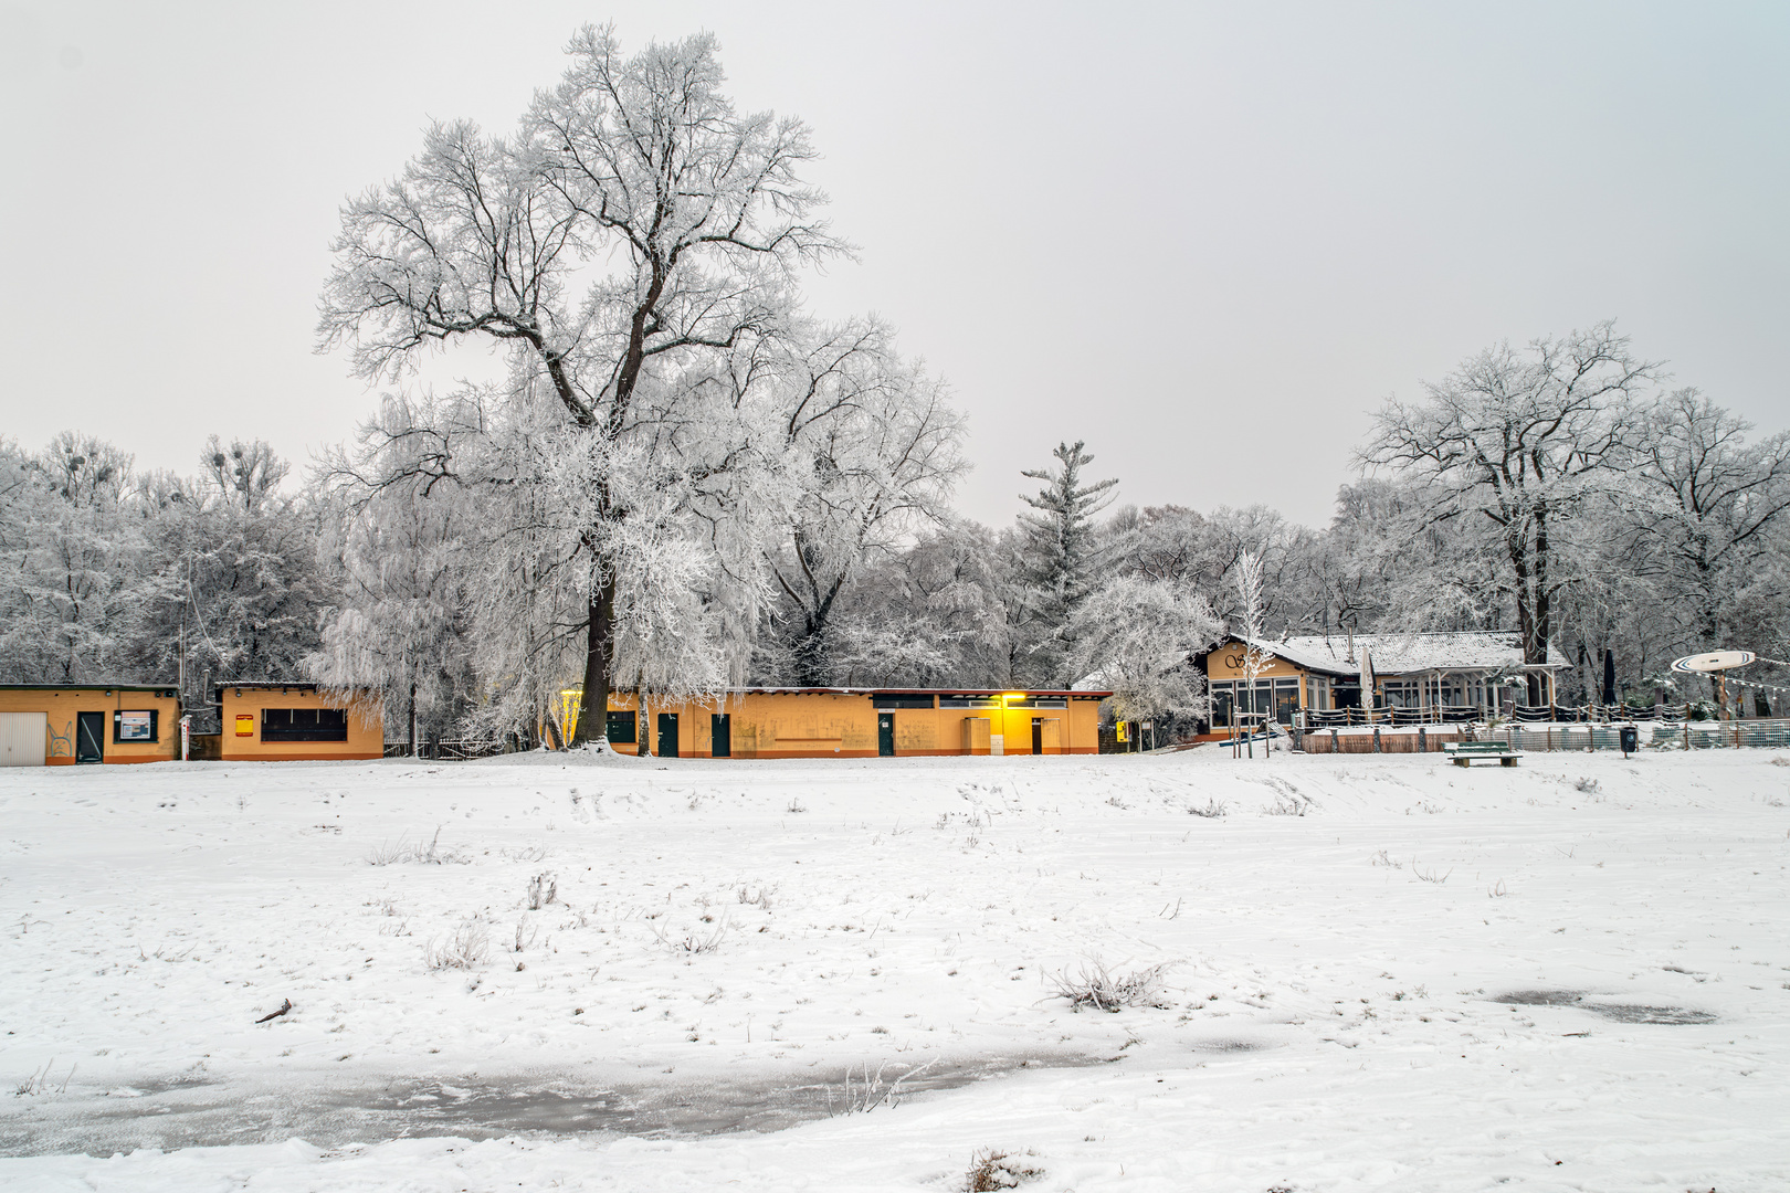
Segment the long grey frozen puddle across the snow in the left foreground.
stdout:
<path fill-rule="evenodd" d="M 936 1062 L 902 1079 L 899 1096 L 956 1089 L 1024 1068 L 1101 1064 L 1035 1053 Z M 884 1089 L 900 1066 L 882 1073 Z M 136 1093 L 136 1091 L 132 1091 Z M 854 1070 L 854 1100 L 863 1077 Z M 578 1086 L 566 1080 L 444 1082 L 399 1079 L 337 1089 L 226 1084 L 145 1086 L 141 1096 L 48 1100 L 0 1118 L 0 1155 L 111 1155 L 134 1148 L 226 1146 L 304 1139 L 319 1146 L 413 1136 L 514 1134 L 707 1136 L 782 1130 L 847 1107 L 843 1071 L 807 1082 Z"/>

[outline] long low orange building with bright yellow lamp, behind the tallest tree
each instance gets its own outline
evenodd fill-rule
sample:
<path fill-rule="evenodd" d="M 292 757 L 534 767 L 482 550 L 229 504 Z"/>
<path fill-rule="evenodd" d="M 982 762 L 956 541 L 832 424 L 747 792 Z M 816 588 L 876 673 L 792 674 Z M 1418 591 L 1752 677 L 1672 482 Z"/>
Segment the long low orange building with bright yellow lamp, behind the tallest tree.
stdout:
<path fill-rule="evenodd" d="M 961 689 L 739 689 L 714 705 L 610 696 L 609 742 L 691 758 L 924 758 L 1099 753 L 1112 692 Z M 226 732 L 227 732 L 226 723 Z M 567 726 L 569 730 L 571 726 Z"/>

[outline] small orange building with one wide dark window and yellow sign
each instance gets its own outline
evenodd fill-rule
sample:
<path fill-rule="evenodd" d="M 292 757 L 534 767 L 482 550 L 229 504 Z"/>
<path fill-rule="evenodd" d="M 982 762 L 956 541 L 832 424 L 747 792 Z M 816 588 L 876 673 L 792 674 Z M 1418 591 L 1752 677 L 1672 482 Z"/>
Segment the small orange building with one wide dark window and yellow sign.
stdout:
<path fill-rule="evenodd" d="M 329 762 L 385 757 L 376 696 L 342 699 L 315 683 L 220 683 L 224 762 Z"/>

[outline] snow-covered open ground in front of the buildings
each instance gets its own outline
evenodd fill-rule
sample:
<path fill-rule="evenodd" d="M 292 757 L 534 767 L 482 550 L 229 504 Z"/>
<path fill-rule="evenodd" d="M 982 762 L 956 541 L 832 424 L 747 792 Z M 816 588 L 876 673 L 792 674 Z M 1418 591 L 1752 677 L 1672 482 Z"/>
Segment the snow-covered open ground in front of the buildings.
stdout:
<path fill-rule="evenodd" d="M 1783 1189 L 1786 762 L 0 771 L 0 1186 Z"/>

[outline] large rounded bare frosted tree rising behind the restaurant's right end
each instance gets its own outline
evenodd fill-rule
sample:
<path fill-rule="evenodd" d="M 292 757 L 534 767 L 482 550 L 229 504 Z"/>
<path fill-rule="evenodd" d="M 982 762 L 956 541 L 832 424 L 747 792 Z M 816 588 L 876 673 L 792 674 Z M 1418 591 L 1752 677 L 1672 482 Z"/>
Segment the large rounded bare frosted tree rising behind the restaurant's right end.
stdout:
<path fill-rule="evenodd" d="M 1425 485 L 1419 526 L 1459 520 L 1496 553 L 1525 662 L 1547 662 L 1556 601 L 1582 574 L 1573 519 L 1622 481 L 1631 404 L 1658 376 L 1604 322 L 1523 351 L 1500 343 L 1425 385 L 1425 401 L 1389 399 L 1375 417 L 1362 461 Z M 1534 676 L 1529 699 L 1541 699 Z"/>

